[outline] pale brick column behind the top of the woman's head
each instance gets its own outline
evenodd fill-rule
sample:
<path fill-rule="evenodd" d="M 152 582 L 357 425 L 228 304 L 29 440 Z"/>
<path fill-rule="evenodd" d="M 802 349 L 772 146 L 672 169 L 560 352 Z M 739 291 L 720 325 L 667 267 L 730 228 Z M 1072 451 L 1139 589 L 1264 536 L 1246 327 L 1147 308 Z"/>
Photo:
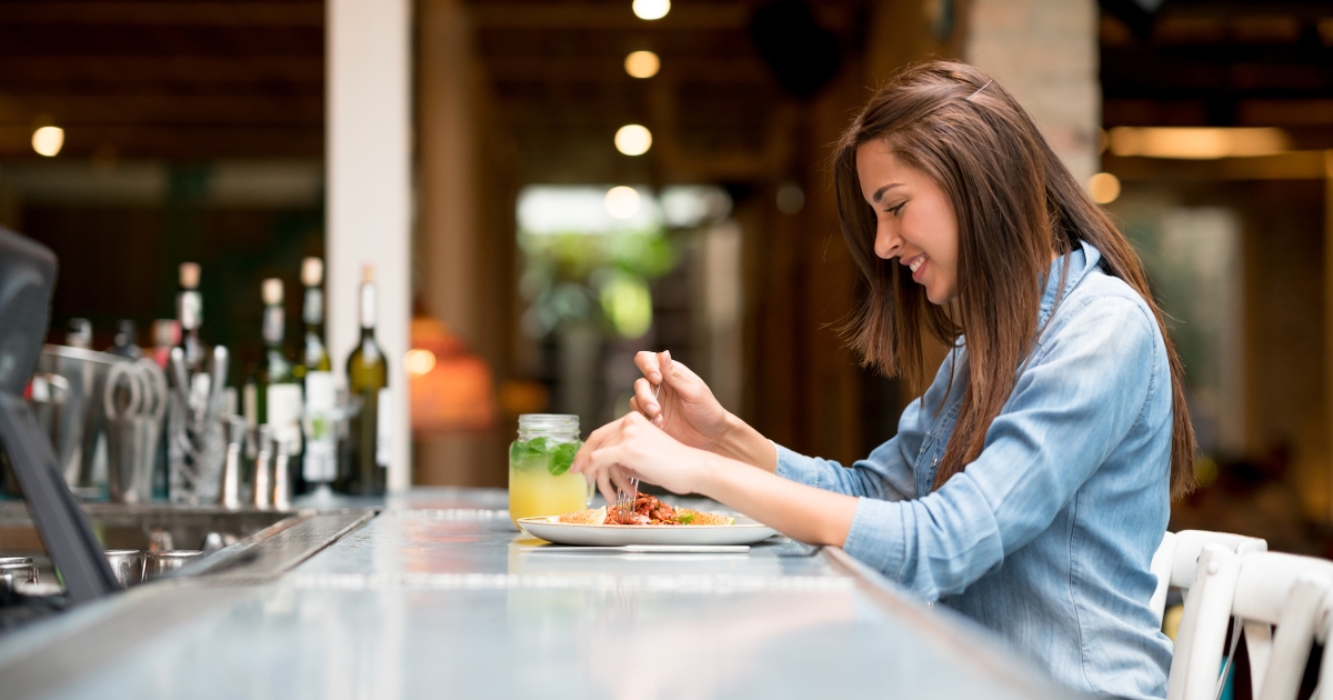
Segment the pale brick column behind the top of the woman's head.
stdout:
<path fill-rule="evenodd" d="M 966 61 L 1032 115 L 1080 184 L 1101 169 L 1094 0 L 973 0 Z"/>

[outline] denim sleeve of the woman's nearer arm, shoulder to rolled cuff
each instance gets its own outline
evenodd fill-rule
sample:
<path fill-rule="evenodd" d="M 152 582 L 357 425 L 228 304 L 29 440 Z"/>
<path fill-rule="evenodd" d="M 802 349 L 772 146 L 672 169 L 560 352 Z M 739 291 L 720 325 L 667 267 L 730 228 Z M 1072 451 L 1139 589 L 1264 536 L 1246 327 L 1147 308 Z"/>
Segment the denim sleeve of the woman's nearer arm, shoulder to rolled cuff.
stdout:
<path fill-rule="evenodd" d="M 1169 381 L 1157 376 L 1156 323 L 1126 297 L 1082 307 L 1038 352 L 964 472 L 922 499 L 858 501 L 849 555 L 930 600 L 961 593 L 1054 521 L 1134 427 L 1153 383 Z"/>

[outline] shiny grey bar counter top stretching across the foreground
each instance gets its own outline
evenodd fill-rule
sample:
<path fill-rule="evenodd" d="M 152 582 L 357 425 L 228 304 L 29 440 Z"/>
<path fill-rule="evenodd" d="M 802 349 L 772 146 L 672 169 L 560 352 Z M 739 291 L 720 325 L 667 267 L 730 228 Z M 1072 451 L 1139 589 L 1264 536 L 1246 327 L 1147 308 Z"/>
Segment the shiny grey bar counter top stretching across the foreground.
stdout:
<path fill-rule="evenodd" d="M 233 545 L 229 569 L 0 637 L 0 696 L 1073 696 L 837 549 L 544 552 L 497 489 L 337 505 L 373 509 L 331 516 L 335 541 L 313 556 L 271 537 L 308 556 L 280 573 Z"/>

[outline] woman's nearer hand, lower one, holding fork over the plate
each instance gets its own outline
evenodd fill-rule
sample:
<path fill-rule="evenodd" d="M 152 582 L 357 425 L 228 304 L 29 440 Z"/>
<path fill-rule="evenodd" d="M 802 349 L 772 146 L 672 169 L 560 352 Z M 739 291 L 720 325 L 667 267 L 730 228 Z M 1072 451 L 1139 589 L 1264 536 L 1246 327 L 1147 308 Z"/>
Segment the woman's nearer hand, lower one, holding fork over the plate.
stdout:
<path fill-rule="evenodd" d="M 673 493 L 697 491 L 698 477 L 712 456 L 681 444 L 639 413 L 597 428 L 575 456 L 569 468 L 596 483 L 607 503 L 616 503 L 617 489 L 629 491 L 629 479 L 657 484 Z"/>

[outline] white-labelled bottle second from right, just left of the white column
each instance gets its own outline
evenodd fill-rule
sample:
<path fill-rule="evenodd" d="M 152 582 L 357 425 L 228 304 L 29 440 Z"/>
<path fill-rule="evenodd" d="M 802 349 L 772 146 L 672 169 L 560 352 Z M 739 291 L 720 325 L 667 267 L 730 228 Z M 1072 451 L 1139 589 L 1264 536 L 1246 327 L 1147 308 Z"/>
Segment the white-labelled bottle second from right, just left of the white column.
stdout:
<path fill-rule="evenodd" d="M 305 323 L 305 352 L 296 365 L 296 375 L 305 387 L 305 413 L 301 428 L 305 436 L 305 455 L 297 493 L 328 487 L 337 477 L 337 387 L 333 363 L 324 345 L 324 261 L 307 257 L 301 261 L 301 284 L 305 299 L 301 320 Z"/>

